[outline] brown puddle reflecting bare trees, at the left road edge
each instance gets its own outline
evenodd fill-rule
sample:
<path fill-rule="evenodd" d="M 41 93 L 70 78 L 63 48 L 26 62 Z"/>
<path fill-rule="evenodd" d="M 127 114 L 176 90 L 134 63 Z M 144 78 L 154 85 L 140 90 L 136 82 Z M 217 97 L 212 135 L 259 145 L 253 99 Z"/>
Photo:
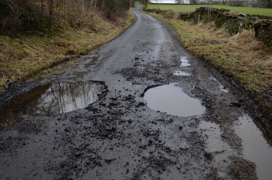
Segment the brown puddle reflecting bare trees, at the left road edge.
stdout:
<path fill-rule="evenodd" d="M 85 108 L 98 99 L 104 87 L 92 81 L 37 86 L 2 105 L 0 125 L 18 122 L 22 115 L 45 116 Z"/>

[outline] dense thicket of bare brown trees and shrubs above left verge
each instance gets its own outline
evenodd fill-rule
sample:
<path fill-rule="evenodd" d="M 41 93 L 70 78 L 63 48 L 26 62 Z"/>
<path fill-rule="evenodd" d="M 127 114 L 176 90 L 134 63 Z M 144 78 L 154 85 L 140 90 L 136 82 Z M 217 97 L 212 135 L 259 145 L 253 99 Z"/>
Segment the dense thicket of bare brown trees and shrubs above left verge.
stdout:
<path fill-rule="evenodd" d="M 95 16 L 111 18 L 125 15 L 125 11 L 134 2 L 135 0 L 0 0 L 0 31 L 65 31 L 70 24 L 78 28 L 94 28 L 97 19 Z"/>

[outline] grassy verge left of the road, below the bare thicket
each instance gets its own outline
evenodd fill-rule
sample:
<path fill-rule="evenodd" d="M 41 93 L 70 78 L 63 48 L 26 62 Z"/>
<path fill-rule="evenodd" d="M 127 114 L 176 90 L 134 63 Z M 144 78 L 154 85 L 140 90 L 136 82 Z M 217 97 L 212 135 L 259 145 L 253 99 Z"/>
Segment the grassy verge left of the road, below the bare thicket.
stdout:
<path fill-rule="evenodd" d="M 14 37 L 0 36 L 0 93 L 8 83 L 32 78 L 60 61 L 86 54 L 109 42 L 135 20 L 131 8 L 115 21 L 98 18 L 95 30 L 69 29 L 64 33 L 28 32 Z"/>

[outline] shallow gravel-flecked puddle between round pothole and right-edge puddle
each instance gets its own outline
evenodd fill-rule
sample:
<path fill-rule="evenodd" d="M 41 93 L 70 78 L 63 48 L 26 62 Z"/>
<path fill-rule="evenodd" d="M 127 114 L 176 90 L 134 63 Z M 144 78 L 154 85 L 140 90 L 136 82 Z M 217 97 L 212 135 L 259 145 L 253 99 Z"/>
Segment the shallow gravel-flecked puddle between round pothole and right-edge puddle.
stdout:
<path fill-rule="evenodd" d="M 205 150 L 208 152 L 228 150 L 229 145 L 222 140 L 220 127 L 214 122 L 202 121 L 199 128 L 203 130 L 203 135 L 206 142 Z"/>

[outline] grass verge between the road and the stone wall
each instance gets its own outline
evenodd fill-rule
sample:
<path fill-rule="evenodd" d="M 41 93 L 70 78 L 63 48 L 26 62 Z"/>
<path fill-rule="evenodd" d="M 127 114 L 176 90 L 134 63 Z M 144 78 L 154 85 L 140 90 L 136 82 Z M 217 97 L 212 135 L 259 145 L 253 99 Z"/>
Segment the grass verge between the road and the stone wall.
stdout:
<path fill-rule="evenodd" d="M 253 31 L 243 30 L 230 36 L 212 23 L 193 24 L 147 14 L 169 24 L 184 48 L 239 84 L 269 120 L 264 129 L 272 137 L 272 53 L 255 39 Z"/>

